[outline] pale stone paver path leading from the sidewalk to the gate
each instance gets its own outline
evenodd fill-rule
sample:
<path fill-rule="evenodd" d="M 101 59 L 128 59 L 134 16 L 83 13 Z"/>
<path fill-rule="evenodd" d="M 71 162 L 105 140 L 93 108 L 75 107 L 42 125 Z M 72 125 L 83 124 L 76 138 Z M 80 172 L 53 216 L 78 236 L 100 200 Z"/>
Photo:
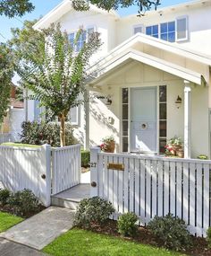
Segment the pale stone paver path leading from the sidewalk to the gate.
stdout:
<path fill-rule="evenodd" d="M 73 217 L 74 211 L 71 209 L 48 207 L 38 215 L 8 229 L 0 234 L 0 237 L 42 250 L 60 234 L 72 228 Z M 2 256 L 2 253 L 0 255 Z"/>

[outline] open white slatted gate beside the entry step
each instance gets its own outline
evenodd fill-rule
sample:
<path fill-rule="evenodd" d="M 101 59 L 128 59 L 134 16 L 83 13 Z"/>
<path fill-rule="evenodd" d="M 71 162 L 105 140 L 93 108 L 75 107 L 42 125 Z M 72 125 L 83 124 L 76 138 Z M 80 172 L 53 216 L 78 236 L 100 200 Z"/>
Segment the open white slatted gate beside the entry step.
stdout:
<path fill-rule="evenodd" d="M 80 145 L 52 148 L 52 194 L 80 183 Z"/>

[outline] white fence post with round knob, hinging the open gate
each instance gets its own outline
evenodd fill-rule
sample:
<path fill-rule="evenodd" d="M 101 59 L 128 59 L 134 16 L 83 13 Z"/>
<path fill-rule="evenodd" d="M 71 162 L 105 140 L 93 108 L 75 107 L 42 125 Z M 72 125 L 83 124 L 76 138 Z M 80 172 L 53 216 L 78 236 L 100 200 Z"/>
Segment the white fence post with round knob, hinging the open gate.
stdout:
<path fill-rule="evenodd" d="M 41 146 L 41 172 L 40 174 L 40 190 L 41 199 L 45 207 L 51 205 L 51 146 Z"/>

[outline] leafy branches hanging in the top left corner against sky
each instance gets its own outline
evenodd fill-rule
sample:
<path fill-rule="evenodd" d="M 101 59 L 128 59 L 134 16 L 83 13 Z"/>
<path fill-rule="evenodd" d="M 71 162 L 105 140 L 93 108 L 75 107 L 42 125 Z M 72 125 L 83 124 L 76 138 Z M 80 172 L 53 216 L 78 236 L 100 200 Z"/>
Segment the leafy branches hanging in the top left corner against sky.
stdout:
<path fill-rule="evenodd" d="M 29 0 L 0 0 L 0 15 L 9 18 L 22 16 L 34 10 L 33 4 Z"/>

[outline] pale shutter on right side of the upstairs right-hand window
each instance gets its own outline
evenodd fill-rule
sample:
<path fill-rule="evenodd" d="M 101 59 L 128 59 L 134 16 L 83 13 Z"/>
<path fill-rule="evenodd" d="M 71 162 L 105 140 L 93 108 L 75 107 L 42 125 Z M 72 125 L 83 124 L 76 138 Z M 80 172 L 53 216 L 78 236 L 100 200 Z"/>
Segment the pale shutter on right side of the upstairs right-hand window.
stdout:
<path fill-rule="evenodd" d="M 188 40 L 188 17 L 182 16 L 176 19 L 176 40 Z"/>

